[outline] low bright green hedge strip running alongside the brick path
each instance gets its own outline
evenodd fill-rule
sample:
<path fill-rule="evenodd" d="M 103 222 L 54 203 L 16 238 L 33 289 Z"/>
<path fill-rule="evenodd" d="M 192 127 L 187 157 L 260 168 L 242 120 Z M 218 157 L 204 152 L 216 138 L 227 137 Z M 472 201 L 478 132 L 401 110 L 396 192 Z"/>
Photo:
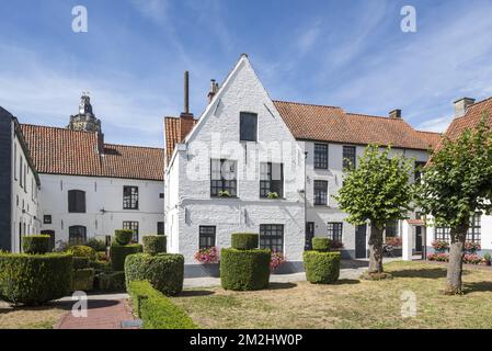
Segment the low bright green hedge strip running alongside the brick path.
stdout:
<path fill-rule="evenodd" d="M 144 321 L 144 329 L 196 329 L 188 315 L 171 299 L 155 290 L 149 282 L 135 281 L 128 285 L 134 312 Z"/>

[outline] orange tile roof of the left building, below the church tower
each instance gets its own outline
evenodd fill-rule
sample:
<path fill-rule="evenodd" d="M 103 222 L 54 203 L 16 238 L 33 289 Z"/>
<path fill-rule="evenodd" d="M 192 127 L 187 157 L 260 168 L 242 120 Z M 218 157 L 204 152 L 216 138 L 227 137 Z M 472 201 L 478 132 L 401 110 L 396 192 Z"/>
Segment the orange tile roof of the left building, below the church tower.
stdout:
<path fill-rule="evenodd" d="M 163 180 L 163 149 L 104 144 L 98 134 L 21 124 L 39 173 Z"/>

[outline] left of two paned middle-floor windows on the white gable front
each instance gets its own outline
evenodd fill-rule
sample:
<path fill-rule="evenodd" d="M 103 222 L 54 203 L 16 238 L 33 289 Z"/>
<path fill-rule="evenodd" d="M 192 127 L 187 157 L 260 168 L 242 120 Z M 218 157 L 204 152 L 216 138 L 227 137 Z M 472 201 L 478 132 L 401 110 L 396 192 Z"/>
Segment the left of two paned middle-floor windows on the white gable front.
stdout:
<path fill-rule="evenodd" d="M 228 192 L 229 196 L 237 196 L 236 161 L 225 159 L 210 160 L 210 196 L 220 196 Z"/>

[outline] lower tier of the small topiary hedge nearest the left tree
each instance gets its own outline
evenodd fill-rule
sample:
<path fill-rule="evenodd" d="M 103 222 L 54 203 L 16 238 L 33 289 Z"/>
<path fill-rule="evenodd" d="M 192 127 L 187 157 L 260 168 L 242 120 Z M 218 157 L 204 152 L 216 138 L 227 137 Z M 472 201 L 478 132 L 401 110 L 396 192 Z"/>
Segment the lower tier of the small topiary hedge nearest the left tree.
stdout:
<path fill-rule="evenodd" d="M 330 284 L 339 280 L 340 252 L 305 251 L 306 279 L 314 284 Z"/>

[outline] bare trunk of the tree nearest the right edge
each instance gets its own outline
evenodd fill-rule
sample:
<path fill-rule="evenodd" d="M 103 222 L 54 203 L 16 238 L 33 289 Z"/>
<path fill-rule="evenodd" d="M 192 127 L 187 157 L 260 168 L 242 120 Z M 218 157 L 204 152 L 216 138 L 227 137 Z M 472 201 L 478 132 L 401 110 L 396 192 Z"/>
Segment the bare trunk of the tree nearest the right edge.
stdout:
<path fill-rule="evenodd" d="M 456 295 L 462 293 L 462 259 L 465 256 L 465 240 L 467 239 L 468 222 L 451 228 L 449 236 L 451 245 L 449 247 L 449 263 L 447 267 L 446 290 L 445 294 Z"/>

